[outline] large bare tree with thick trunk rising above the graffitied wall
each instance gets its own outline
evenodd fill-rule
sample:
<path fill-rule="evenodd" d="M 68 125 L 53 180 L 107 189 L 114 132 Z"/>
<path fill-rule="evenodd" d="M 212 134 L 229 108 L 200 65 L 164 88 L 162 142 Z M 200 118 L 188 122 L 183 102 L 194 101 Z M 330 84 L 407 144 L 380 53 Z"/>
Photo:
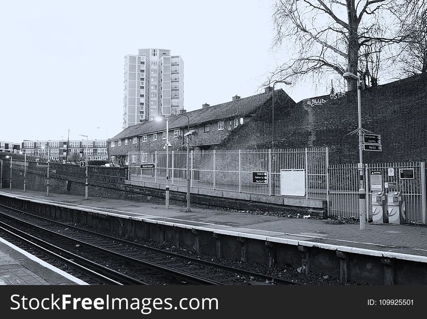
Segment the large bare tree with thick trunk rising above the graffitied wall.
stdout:
<path fill-rule="evenodd" d="M 409 0 L 277 0 L 273 47 L 285 45 L 292 57 L 272 72 L 271 79 L 296 82 L 308 74 L 351 72 L 368 76 L 376 85 L 384 46 L 407 39 L 398 32 L 401 20 L 394 9 L 405 1 Z M 347 89 L 355 88 L 355 81 L 347 82 Z"/>

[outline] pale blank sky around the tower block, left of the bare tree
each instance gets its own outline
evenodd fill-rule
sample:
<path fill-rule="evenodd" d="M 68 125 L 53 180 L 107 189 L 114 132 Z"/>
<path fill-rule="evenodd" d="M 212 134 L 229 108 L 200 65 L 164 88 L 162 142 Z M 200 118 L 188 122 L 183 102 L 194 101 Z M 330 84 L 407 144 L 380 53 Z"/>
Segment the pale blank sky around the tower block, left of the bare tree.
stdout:
<path fill-rule="evenodd" d="M 105 139 L 122 131 L 124 56 L 184 61 L 184 108 L 263 92 L 279 59 L 272 0 L 16 0 L 0 4 L 0 140 Z M 279 88 L 282 84 L 277 84 Z M 304 85 L 283 89 L 295 100 Z M 100 128 L 98 128 L 100 127 Z"/>

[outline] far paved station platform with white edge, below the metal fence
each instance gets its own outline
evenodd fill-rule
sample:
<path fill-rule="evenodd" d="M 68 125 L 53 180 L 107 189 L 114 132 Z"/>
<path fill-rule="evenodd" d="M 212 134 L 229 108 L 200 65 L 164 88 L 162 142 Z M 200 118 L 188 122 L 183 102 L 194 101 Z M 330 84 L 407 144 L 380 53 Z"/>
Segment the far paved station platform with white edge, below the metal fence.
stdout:
<path fill-rule="evenodd" d="M 358 222 L 343 224 L 331 219 L 302 218 L 302 216 L 301 218 L 283 218 L 201 207 L 192 207 L 193 212 L 187 213 L 185 203 L 180 206 L 170 205 L 166 209 L 164 205 L 151 202 L 93 197 L 85 199 L 84 196 L 55 193 L 50 193 L 47 197 L 45 192 L 24 193 L 18 189 L 3 188 L 0 194 L 31 201 L 51 202 L 66 207 L 78 207 L 81 210 L 118 217 L 149 220 L 175 227 L 397 258 L 426 263 L 427 266 L 427 227 L 424 225 L 368 223 L 366 229 L 361 230 Z M 5 248 L 0 244 L 0 265 L 11 252 L 10 249 L 5 251 Z"/>

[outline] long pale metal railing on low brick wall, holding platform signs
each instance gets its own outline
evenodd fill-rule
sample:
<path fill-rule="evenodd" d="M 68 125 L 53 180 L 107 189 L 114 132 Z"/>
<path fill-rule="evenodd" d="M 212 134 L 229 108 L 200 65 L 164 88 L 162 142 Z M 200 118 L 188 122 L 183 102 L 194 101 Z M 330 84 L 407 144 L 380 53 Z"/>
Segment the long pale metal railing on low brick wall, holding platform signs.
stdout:
<path fill-rule="evenodd" d="M 130 180 L 166 184 L 168 167 L 169 183 L 186 185 L 186 151 L 130 153 L 129 158 Z M 191 187 L 280 195 L 282 171 L 301 170 L 305 174 L 304 197 L 328 196 L 327 148 L 191 151 L 189 165 Z M 265 174 L 263 182 L 254 183 L 254 172 Z"/>

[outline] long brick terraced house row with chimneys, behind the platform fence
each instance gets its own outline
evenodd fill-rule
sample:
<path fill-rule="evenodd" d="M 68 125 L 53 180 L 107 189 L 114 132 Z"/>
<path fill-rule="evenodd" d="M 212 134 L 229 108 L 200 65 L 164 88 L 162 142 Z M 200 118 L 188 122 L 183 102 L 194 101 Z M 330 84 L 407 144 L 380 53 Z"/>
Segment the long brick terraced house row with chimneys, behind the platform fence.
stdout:
<path fill-rule="evenodd" d="M 272 88 L 264 93 L 247 98 L 232 97 L 231 101 L 202 105 L 191 112 L 181 111 L 179 115 L 132 125 L 108 140 L 109 159 L 113 163 L 128 164 L 129 154 L 134 152 L 163 151 L 166 144 L 166 119 L 170 150 L 180 150 L 184 134 L 193 132 L 191 145 L 195 150 L 209 150 L 221 145 L 245 127 L 259 114 L 271 113 Z M 283 112 L 295 105 L 282 89 L 275 92 L 275 109 Z M 253 132 L 245 138 L 253 138 Z"/>

